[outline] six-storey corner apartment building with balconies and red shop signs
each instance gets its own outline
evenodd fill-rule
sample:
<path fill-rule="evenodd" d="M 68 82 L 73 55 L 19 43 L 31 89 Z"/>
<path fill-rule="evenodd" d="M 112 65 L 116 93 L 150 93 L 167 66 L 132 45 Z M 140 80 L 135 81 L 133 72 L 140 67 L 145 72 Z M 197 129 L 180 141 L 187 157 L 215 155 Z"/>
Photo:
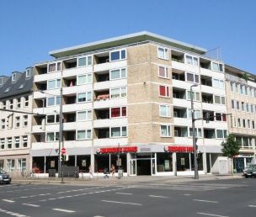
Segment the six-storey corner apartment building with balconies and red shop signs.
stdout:
<path fill-rule="evenodd" d="M 32 120 L 33 167 L 57 170 L 64 146 L 66 164 L 83 172 L 194 174 L 192 90 L 200 174 L 227 173 L 224 64 L 205 54 L 148 32 L 51 51 L 55 60 L 35 65 L 33 113 L 45 118 Z"/>

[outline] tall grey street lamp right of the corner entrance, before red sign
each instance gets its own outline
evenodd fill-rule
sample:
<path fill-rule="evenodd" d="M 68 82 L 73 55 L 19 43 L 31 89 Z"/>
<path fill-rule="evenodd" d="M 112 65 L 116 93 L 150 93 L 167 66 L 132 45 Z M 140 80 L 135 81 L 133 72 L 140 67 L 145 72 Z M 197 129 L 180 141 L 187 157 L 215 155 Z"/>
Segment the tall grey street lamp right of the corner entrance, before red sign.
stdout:
<path fill-rule="evenodd" d="M 192 88 L 197 87 L 198 84 L 193 84 L 190 86 L 190 100 L 191 100 L 191 118 L 192 118 L 192 134 L 193 134 L 193 149 L 194 149 L 194 170 L 195 170 L 195 179 L 199 179 L 198 175 L 198 166 L 197 166 L 197 158 L 196 158 L 196 144 L 195 144 L 195 111 L 194 111 L 194 101 L 193 101 L 193 93 Z"/>

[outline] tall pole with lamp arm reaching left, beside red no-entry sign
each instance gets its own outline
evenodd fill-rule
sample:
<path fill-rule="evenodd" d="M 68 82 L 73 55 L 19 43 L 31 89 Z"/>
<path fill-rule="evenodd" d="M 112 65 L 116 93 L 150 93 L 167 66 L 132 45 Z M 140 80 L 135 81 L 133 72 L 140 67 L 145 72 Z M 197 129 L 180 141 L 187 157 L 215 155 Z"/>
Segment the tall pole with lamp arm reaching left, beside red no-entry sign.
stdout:
<path fill-rule="evenodd" d="M 43 90 L 39 90 L 40 93 L 45 93 Z M 47 95 L 57 97 L 58 95 L 45 93 Z M 63 161 L 61 161 L 61 148 L 63 148 L 63 115 L 62 115 L 62 87 L 60 88 L 60 117 L 59 117 L 59 156 L 58 156 L 58 177 L 61 177 L 61 183 L 63 182 Z"/>

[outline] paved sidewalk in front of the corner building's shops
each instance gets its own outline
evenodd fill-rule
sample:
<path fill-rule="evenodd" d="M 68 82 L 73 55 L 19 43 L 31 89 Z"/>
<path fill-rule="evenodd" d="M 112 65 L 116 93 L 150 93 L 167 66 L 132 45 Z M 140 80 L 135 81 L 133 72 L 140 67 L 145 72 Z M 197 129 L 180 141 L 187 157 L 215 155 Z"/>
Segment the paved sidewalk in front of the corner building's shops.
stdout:
<path fill-rule="evenodd" d="M 140 183 L 189 183 L 189 182 L 199 182 L 199 181 L 209 181 L 209 180 L 222 180 L 222 179 L 234 179 L 234 178 L 243 178 L 241 174 L 236 175 L 200 175 L 199 180 L 195 180 L 194 176 L 135 176 L 135 177 L 109 177 L 104 179 L 104 177 L 80 177 L 80 178 L 70 178 L 64 177 L 64 183 L 61 183 L 61 178 L 58 177 L 48 177 L 48 178 L 21 178 L 13 177 L 12 183 L 15 184 L 67 184 L 67 185 L 112 185 L 112 184 L 122 184 L 122 185 L 131 185 L 131 184 L 140 184 Z"/>

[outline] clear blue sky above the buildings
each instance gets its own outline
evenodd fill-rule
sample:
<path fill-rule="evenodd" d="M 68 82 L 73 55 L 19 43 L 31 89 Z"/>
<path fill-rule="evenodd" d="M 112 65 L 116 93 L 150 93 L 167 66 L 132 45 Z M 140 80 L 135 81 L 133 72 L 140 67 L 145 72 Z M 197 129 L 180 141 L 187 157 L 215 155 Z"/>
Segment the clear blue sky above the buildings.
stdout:
<path fill-rule="evenodd" d="M 2 0 L 0 75 L 51 60 L 50 50 L 142 30 L 207 50 L 256 74 L 253 0 Z"/>

